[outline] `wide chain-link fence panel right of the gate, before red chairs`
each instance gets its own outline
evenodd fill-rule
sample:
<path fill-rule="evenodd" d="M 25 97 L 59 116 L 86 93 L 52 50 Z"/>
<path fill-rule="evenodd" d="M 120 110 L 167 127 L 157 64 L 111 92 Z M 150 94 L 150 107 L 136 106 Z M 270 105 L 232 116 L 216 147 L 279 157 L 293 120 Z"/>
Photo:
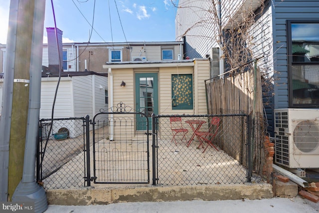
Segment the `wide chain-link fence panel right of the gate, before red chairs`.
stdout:
<path fill-rule="evenodd" d="M 174 117 L 180 118 L 181 126 L 171 125 Z M 215 120 L 219 123 L 211 128 Z M 249 181 L 248 168 L 243 166 L 248 160 L 247 122 L 245 114 L 155 116 L 153 183 L 219 185 Z M 203 140 L 205 133 L 209 134 Z"/>

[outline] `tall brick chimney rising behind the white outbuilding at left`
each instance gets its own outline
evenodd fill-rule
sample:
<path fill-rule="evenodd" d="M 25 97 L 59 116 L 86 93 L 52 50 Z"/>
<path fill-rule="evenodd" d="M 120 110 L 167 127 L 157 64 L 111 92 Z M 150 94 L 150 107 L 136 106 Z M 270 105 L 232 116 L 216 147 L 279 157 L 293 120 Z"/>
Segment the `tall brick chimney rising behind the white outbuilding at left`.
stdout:
<path fill-rule="evenodd" d="M 63 48 L 62 48 L 62 34 L 63 32 L 56 28 L 57 39 L 55 38 L 55 28 L 47 27 L 46 32 L 48 36 L 48 57 L 49 67 L 48 72 L 58 73 L 59 72 L 59 52 L 60 52 L 60 63 L 63 71 Z M 58 52 L 59 49 L 59 52 Z"/>

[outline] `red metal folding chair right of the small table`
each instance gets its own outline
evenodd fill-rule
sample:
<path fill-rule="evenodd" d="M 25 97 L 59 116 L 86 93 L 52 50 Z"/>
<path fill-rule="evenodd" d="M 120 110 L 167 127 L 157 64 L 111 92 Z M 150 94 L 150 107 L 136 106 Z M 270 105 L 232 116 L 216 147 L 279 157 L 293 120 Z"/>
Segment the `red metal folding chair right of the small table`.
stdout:
<path fill-rule="evenodd" d="M 219 151 L 215 145 L 213 144 L 213 140 L 215 136 L 217 135 L 218 129 L 219 129 L 219 123 L 220 123 L 220 118 L 218 117 L 212 117 L 210 120 L 210 127 L 208 128 L 208 131 L 206 132 L 196 132 L 195 134 L 198 136 L 198 139 L 200 141 L 200 146 L 204 148 L 203 143 L 206 142 L 207 146 L 204 149 L 203 153 L 206 151 L 208 146 L 214 147 L 217 151 Z"/>

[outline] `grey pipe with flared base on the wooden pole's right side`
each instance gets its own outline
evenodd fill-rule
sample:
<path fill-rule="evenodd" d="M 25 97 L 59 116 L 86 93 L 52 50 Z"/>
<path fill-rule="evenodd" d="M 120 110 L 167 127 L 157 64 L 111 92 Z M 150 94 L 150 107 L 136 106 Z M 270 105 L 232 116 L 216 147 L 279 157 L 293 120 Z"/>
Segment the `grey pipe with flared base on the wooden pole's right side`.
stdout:
<path fill-rule="evenodd" d="M 30 57 L 30 89 L 27 128 L 22 180 L 16 187 L 12 201 L 34 202 L 34 212 L 44 212 L 48 208 L 45 190 L 35 181 L 35 155 L 39 131 L 40 100 L 41 100 L 41 66 L 42 41 L 44 27 L 45 1 L 34 3 L 32 45 Z"/>

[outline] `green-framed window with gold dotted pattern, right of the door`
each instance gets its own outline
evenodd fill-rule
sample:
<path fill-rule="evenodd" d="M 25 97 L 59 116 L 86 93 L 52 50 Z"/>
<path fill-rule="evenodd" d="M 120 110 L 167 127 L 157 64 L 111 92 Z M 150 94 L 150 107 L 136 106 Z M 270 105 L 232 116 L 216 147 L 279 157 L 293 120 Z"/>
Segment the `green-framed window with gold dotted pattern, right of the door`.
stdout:
<path fill-rule="evenodd" d="M 192 74 L 171 75 L 171 107 L 173 110 L 193 109 Z"/>

